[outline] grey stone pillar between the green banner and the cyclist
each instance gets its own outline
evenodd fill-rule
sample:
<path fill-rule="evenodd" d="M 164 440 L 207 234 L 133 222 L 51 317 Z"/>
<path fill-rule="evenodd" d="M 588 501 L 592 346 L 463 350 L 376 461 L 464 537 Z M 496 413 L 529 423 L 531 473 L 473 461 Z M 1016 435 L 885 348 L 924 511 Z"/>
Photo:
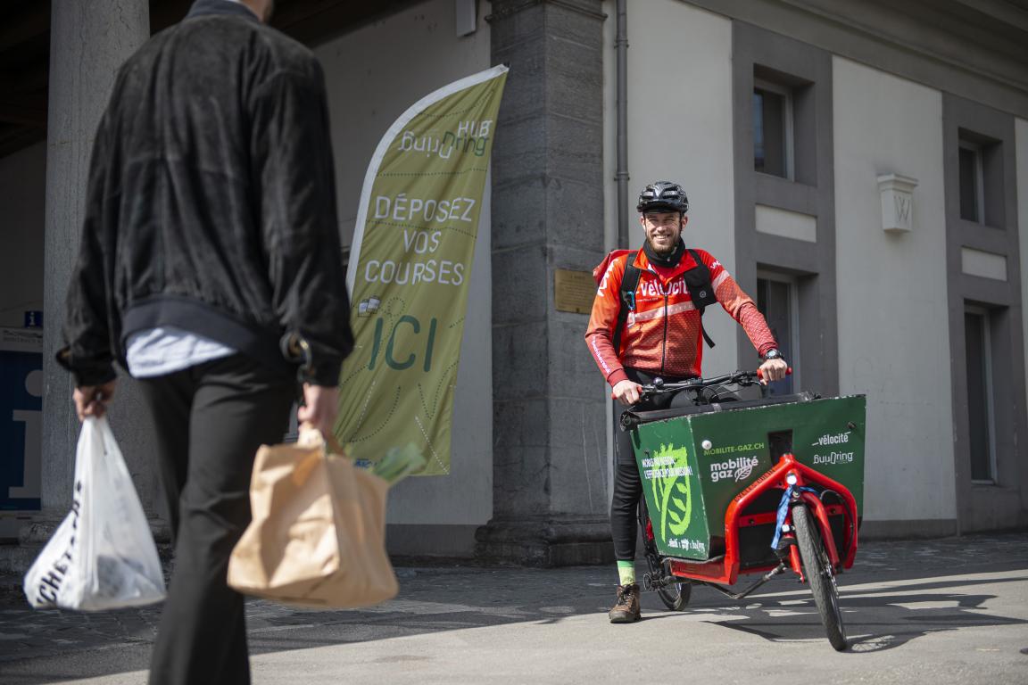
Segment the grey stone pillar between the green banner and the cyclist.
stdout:
<path fill-rule="evenodd" d="M 614 559 L 603 382 L 588 316 L 557 311 L 556 269 L 603 255 L 599 0 L 493 0 L 510 66 L 492 153 L 493 518 L 479 558 Z"/>

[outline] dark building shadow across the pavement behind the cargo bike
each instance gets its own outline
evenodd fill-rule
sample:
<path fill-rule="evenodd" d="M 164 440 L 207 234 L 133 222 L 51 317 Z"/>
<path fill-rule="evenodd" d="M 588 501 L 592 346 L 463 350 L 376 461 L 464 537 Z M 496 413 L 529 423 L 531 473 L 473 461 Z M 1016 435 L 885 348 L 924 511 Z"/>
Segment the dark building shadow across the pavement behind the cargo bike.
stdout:
<path fill-rule="evenodd" d="M 1028 582 L 1025 549 L 1024 533 L 868 544 L 840 579 L 850 654 L 892 649 L 941 631 L 1028 622 L 1004 615 L 995 594 L 997 585 Z M 945 563 L 924 563 L 932 559 Z M 450 567 L 398 569 L 398 575 L 399 597 L 368 609 L 306 610 L 248 601 L 251 653 L 553 624 L 571 616 L 592 615 L 605 627 L 615 599 L 616 574 L 609 567 Z M 771 642 L 818 641 L 831 650 L 805 585 L 776 580 L 766 587 L 767 594 L 741 603 L 695 588 L 683 613 L 665 611 L 648 593 L 644 618 L 661 625 L 682 621 L 682 630 L 690 622 L 711 623 Z M 159 607 L 97 614 L 32 611 L 20 593 L 8 589 L 0 595 L 0 682 L 35 685 L 145 670 L 159 615 Z"/>

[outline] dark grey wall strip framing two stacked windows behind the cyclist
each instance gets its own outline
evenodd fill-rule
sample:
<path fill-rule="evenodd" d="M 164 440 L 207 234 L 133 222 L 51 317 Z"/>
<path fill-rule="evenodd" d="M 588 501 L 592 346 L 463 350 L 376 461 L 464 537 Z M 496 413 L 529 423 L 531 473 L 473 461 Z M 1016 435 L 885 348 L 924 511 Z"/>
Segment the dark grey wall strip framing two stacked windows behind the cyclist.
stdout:
<path fill-rule="evenodd" d="M 827 50 L 732 23 L 732 131 L 742 143 L 732 150 L 733 275 L 760 300 L 794 369 L 775 394 L 839 391 L 832 62 Z M 755 361 L 746 347 L 737 349 L 740 368 Z"/>

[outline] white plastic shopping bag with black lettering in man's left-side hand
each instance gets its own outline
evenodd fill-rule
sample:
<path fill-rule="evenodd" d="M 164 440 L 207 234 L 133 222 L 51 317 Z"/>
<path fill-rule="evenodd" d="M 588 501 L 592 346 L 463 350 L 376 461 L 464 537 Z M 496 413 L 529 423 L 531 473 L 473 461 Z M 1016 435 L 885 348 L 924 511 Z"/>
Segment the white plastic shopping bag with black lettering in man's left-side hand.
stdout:
<path fill-rule="evenodd" d="M 99 611 L 164 599 L 157 547 L 107 419 L 83 421 L 71 511 L 23 587 L 36 608 Z"/>

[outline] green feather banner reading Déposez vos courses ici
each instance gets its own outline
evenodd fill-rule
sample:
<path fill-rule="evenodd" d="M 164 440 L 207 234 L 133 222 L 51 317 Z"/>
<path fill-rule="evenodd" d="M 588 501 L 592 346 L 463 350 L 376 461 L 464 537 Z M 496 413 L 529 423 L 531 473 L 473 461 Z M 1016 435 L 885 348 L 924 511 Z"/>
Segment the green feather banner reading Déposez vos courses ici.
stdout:
<path fill-rule="evenodd" d="M 360 463 L 414 446 L 449 472 L 453 387 L 503 66 L 396 120 L 364 179 L 346 284 L 356 346 L 335 434 Z"/>

